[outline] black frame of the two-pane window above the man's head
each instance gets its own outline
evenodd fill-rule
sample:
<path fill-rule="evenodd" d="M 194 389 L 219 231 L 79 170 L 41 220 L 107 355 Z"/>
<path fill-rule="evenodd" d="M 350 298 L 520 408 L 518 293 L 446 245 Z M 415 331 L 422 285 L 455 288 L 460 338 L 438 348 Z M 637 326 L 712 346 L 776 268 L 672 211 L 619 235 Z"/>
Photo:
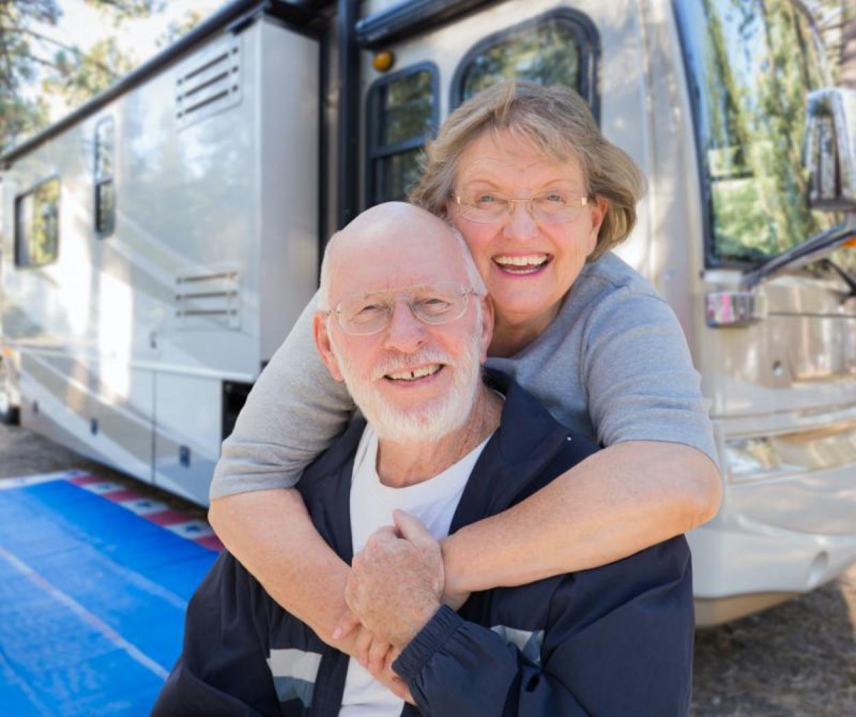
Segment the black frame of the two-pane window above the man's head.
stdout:
<path fill-rule="evenodd" d="M 431 74 L 431 128 L 427 133 L 413 135 L 409 139 L 402 139 L 391 145 L 383 145 L 380 142 L 381 127 L 381 90 L 391 85 L 402 77 L 409 74 L 428 71 Z M 377 78 L 369 87 L 366 98 L 366 200 L 365 207 L 374 206 L 378 203 L 377 187 L 375 186 L 374 163 L 377 160 L 392 157 L 405 151 L 418 150 L 425 146 L 429 136 L 437 134 L 440 124 L 440 71 L 437 65 L 430 60 L 407 65 L 406 68 L 396 70 L 394 73 L 386 74 Z"/>

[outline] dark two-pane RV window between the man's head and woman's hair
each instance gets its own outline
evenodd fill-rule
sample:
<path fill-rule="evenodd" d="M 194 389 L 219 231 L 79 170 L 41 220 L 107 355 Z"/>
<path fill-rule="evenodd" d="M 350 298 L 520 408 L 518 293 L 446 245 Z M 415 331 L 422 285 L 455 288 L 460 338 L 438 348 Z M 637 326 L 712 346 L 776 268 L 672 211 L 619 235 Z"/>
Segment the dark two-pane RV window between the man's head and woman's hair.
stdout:
<path fill-rule="evenodd" d="M 425 62 L 377 80 L 369 91 L 369 206 L 405 199 L 419 177 L 419 153 L 437 127 L 437 68 Z"/>

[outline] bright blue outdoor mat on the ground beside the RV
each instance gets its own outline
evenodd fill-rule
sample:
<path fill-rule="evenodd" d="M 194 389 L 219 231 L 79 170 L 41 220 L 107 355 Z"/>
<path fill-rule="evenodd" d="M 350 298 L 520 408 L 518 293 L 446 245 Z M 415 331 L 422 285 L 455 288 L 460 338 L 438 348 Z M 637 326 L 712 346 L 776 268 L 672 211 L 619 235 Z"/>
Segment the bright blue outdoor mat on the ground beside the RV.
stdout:
<path fill-rule="evenodd" d="M 216 558 L 68 480 L 0 489 L 0 714 L 148 714 Z"/>

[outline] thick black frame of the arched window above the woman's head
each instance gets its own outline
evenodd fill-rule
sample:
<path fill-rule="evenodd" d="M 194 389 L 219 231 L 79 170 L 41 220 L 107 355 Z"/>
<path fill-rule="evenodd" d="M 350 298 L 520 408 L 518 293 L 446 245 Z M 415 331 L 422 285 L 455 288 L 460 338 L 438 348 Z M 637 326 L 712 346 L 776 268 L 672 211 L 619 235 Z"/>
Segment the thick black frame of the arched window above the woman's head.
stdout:
<path fill-rule="evenodd" d="M 526 31 L 538 27 L 546 21 L 558 21 L 567 25 L 577 39 L 580 49 L 580 86 L 573 87 L 580 96 L 586 100 L 594 121 L 600 126 L 600 33 L 591 18 L 580 10 L 571 8 L 558 8 L 548 10 L 537 17 L 517 23 L 510 27 L 504 27 L 496 33 L 479 40 L 473 45 L 467 54 L 461 57 L 461 62 L 455 68 L 452 82 L 449 86 L 449 112 L 455 110 L 463 102 L 463 80 L 467 67 L 473 62 L 475 56 L 481 55 L 484 50 L 508 40 L 514 35 L 526 33 Z"/>

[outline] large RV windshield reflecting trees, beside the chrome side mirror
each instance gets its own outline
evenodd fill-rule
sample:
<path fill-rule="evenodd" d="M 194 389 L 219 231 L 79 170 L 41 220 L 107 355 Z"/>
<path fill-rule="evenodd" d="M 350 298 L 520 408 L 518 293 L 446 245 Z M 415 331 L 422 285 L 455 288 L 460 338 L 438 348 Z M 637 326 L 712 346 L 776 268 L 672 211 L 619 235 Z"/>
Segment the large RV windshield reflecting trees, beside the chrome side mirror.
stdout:
<path fill-rule="evenodd" d="M 835 223 L 807 204 L 805 99 L 824 86 L 811 23 L 788 0 L 675 3 L 717 264 L 758 264 Z"/>

